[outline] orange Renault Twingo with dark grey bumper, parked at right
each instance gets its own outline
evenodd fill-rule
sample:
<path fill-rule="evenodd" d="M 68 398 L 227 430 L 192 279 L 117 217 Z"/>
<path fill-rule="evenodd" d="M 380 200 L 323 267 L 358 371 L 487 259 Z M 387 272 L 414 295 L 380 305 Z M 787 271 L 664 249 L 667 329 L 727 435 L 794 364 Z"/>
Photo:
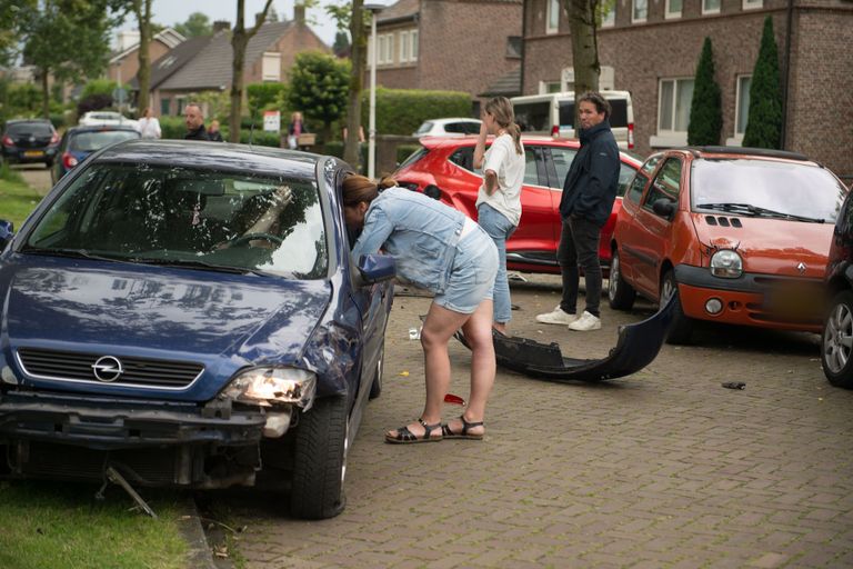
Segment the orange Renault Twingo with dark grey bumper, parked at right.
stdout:
<path fill-rule="evenodd" d="M 694 320 L 820 332 L 822 279 L 846 188 L 793 152 L 673 149 L 649 157 L 622 201 L 608 298 L 678 295 L 670 343 Z"/>

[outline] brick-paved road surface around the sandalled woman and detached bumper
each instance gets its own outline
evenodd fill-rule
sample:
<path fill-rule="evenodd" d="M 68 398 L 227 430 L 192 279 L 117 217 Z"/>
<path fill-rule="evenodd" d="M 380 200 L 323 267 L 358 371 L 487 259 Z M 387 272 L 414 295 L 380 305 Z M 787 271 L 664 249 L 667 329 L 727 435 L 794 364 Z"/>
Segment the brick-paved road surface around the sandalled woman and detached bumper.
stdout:
<path fill-rule="evenodd" d="M 651 313 L 605 308 L 604 329 L 584 335 L 536 325 L 555 286 L 514 286 L 513 331 L 566 356 L 603 357 L 616 323 Z M 426 306 L 395 302 L 385 390 L 352 449 L 344 513 L 302 522 L 269 497 L 227 498 L 248 526 L 248 567 L 853 566 L 853 392 L 826 383 L 815 336 L 703 330 L 699 347 L 665 346 L 600 385 L 499 370 L 484 442 L 385 445 L 422 405 L 408 329 Z M 452 391 L 466 396 L 468 352 L 451 353 Z M 746 389 L 721 387 L 730 380 Z"/>

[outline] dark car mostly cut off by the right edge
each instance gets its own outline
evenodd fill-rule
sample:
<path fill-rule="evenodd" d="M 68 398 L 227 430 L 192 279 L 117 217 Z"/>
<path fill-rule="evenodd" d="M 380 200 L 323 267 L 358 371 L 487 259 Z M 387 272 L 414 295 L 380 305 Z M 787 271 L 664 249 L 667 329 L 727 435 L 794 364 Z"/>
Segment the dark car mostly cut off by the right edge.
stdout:
<path fill-rule="evenodd" d="M 825 283 L 829 310 L 821 338 L 823 373 L 833 386 L 853 389 L 853 192 L 835 221 Z"/>

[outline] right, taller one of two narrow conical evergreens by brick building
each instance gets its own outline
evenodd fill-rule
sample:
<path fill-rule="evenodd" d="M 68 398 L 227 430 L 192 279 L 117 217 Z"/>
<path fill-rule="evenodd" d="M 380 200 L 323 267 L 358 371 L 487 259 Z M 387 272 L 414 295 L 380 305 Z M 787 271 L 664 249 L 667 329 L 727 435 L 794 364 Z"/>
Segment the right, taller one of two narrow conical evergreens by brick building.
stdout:
<path fill-rule="evenodd" d="M 779 49 L 773 36 L 773 20 L 764 20 L 761 47 L 752 71 L 750 109 L 743 146 L 775 148 L 782 141 L 782 89 L 779 80 Z"/>

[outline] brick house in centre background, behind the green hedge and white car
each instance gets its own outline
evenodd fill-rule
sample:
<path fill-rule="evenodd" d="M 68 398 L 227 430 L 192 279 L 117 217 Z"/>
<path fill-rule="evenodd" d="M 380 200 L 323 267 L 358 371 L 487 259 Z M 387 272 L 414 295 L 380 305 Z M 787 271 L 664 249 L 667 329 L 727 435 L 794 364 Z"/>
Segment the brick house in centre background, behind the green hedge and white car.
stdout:
<path fill-rule="evenodd" d="M 522 0 L 399 0 L 377 16 L 377 84 L 490 92 L 520 68 L 521 13 Z"/>

